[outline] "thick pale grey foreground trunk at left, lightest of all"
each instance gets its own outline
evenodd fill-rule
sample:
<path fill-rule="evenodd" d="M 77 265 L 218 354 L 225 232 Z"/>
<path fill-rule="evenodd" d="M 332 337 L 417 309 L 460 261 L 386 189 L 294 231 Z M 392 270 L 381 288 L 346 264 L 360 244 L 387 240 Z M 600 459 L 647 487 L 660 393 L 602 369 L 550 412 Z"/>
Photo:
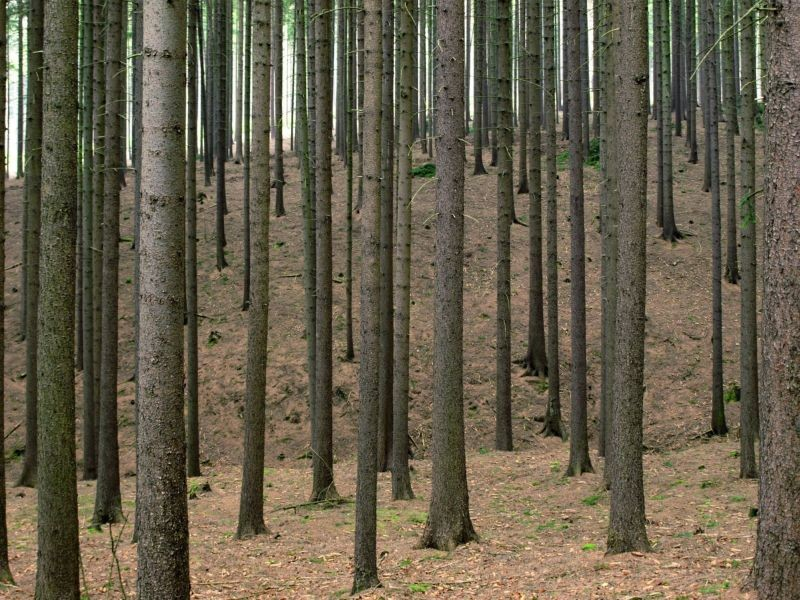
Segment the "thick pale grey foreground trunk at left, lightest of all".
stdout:
<path fill-rule="evenodd" d="M 189 598 L 183 421 L 186 2 L 144 0 L 138 598 Z M 169 568 L 164 568 L 169 565 Z"/>

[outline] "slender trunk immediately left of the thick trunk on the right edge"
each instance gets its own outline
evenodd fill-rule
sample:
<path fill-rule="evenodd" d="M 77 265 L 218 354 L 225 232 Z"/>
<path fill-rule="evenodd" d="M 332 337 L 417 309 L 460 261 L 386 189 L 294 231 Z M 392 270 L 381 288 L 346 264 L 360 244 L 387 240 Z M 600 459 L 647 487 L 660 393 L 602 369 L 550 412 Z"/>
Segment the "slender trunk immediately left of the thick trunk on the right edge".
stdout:
<path fill-rule="evenodd" d="M 741 293 L 741 432 L 739 476 L 757 476 L 755 437 L 758 433 L 758 315 L 756 298 L 756 54 L 753 0 L 742 0 L 742 293 Z"/>

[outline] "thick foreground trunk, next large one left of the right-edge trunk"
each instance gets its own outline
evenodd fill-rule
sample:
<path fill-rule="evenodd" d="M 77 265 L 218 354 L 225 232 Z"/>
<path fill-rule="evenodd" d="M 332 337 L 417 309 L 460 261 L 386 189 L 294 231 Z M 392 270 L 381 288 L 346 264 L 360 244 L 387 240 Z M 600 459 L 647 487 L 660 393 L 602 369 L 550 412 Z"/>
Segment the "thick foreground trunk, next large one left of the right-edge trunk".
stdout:
<path fill-rule="evenodd" d="M 647 551 L 642 469 L 647 282 L 647 5 L 614 5 L 614 121 L 617 152 L 620 286 L 611 414 L 611 512 L 608 552 Z M 618 40 L 618 41 L 617 41 Z M 608 454 L 608 453 L 607 453 Z"/>

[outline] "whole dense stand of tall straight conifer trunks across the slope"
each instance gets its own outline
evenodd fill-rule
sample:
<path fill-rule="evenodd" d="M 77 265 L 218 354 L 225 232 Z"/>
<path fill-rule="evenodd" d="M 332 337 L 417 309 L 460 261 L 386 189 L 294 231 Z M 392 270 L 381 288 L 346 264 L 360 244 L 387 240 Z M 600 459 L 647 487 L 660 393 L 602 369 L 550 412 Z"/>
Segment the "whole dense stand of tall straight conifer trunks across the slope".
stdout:
<path fill-rule="evenodd" d="M 682 215 L 675 210 L 675 163 L 699 160 L 698 125 L 703 126 L 703 191 L 708 192 L 711 218 L 710 434 L 728 432 L 722 336 L 723 309 L 731 309 L 722 304 L 723 282 L 741 284 L 740 476 L 760 476 L 761 483 L 755 587 L 761 598 L 800 596 L 800 188 L 790 151 L 800 132 L 798 2 L 14 0 L 0 3 L 3 107 L 8 101 L 7 32 L 13 28 L 18 51 L 16 175 L 25 178 L 22 225 L 16 232 L 23 254 L 16 329 L 25 343 L 26 370 L 25 458 L 17 485 L 38 488 L 37 597 L 81 594 L 78 372 L 82 477 L 97 480 L 91 523 L 99 528 L 126 518 L 117 396 L 121 190 L 129 170 L 134 188 L 137 589 L 141 598 L 189 597 L 186 476 L 200 474 L 203 452 L 198 204 L 212 195 L 213 185 L 216 268 L 222 271 L 228 267 L 225 228 L 232 226 L 226 223 L 226 171 L 232 161 L 243 163 L 244 173 L 242 308 L 248 323 L 237 538 L 267 532 L 273 189 L 275 217 L 302 215 L 310 500 L 340 500 L 333 467 L 333 342 L 338 333 L 333 327 L 333 208 L 343 192 L 345 358 L 359 361 L 353 592 L 379 585 L 378 472 L 392 472 L 394 499 L 414 497 L 409 360 L 416 149 L 435 163 L 436 176 L 432 490 L 419 545 L 452 550 L 478 539 L 470 516 L 464 433 L 465 173 L 469 156 L 472 176 L 486 175 L 488 150 L 488 165 L 496 171 L 497 208 L 495 446 L 503 451 L 514 447 L 512 358 L 518 352 L 524 354 L 520 362 L 527 375 L 547 378 L 545 414 L 537 418 L 543 435 L 569 438 L 567 474 L 593 470 L 584 184 L 586 163 L 593 162 L 601 174 L 597 444 L 611 499 L 607 546 L 611 553 L 650 550 L 642 421 L 651 116 L 658 174 L 653 221 L 668 244 L 680 243 L 688 233 L 678 226 Z M 287 62 L 292 77 L 284 89 Z M 759 121 L 762 103 L 766 110 Z M 5 114 L 0 116 L 4 126 Z M 569 172 L 568 427 L 560 386 L 559 115 L 568 140 Z M 762 207 L 756 176 L 759 123 L 766 124 Z M 684 131 L 685 148 L 675 143 Z M 293 160 L 285 161 L 286 135 L 299 171 L 296 205 L 284 196 L 286 164 Z M 3 162 L 6 150 L 3 142 Z M 199 159 L 204 185 L 198 182 Z M 344 190 L 333 185 L 335 160 L 346 167 Z M 528 195 L 527 221 L 516 215 L 515 193 Z M 4 223 L 5 187 L 0 189 Z M 512 261 L 525 255 L 512 245 L 515 224 L 528 228 L 528 318 L 523 325 L 511 309 Z M 756 243 L 762 231 L 764 273 L 759 280 Z M 358 347 L 353 335 L 355 232 L 360 240 Z M 0 257 L 5 258 L 3 227 L 0 234 Z M 3 271 L 0 289 L 4 284 Z M 515 348 L 513 327 L 521 326 L 527 329 L 526 347 Z M 0 324 L 0 342 L 5 331 Z M 0 416 L 3 393 L 0 381 Z M 3 427 L 0 422 L 4 440 Z M 3 464 L 3 489 L 5 478 Z M 3 495 L 3 582 L 12 580 L 8 538 Z"/>

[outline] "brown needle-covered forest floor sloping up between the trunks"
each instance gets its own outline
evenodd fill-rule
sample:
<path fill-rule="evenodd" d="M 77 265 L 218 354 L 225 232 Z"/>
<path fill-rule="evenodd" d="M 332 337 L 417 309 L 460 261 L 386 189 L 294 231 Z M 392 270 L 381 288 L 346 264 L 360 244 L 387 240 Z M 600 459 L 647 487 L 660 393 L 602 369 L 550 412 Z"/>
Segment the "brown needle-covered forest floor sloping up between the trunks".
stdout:
<path fill-rule="evenodd" d="M 702 141 L 702 136 L 700 137 Z M 651 132 L 651 149 L 655 148 Z M 496 178 L 466 180 L 464 265 L 464 402 L 473 518 L 481 542 L 449 555 L 415 550 L 429 497 L 434 267 L 434 185 L 415 179 L 412 264 L 411 415 L 413 484 L 418 498 L 392 502 L 381 475 L 379 552 L 385 588 L 377 596 L 440 597 L 695 598 L 747 597 L 754 546 L 756 485 L 738 480 L 738 405 L 726 405 L 729 438 L 708 440 L 711 380 L 710 198 L 700 191 L 702 165 L 685 161 L 681 138 L 675 149 L 675 207 L 687 237 L 677 244 L 659 238 L 648 220 L 648 309 L 645 393 L 646 498 L 649 532 L 656 552 L 605 557 L 608 498 L 601 478 L 566 479 L 568 444 L 537 435 L 547 382 L 522 376 L 512 382 L 515 453 L 491 451 L 494 438 L 494 307 Z M 470 152 L 471 154 L 471 152 Z M 655 152 L 651 151 L 651 215 L 655 205 Z M 488 160 L 488 152 L 485 155 Z M 702 148 L 701 148 L 702 156 Z M 415 156 L 415 165 L 428 162 Z M 560 161 L 561 162 L 561 161 Z M 271 225 L 270 349 L 267 390 L 266 510 L 272 535 L 237 542 L 246 318 L 242 304 L 242 171 L 229 165 L 226 218 L 230 266 L 214 260 L 212 186 L 203 188 L 198 211 L 200 293 L 201 457 L 203 478 L 190 488 L 193 589 L 203 598 L 300 598 L 343 595 L 351 582 L 353 506 L 331 509 L 279 507 L 302 503 L 310 491 L 309 425 L 303 337 L 302 220 L 296 160 L 287 155 L 287 216 Z M 590 437 L 594 445 L 600 373 L 599 172 L 586 168 L 587 332 Z M 202 184 L 202 175 L 200 177 Z M 560 171 L 559 253 L 562 406 L 569 418 L 569 214 L 568 173 Z M 358 363 L 345 350 L 345 171 L 334 173 L 334 452 L 337 487 L 354 493 Z M 20 587 L 2 597 L 29 597 L 36 561 L 36 492 L 12 488 L 24 454 L 24 343 L 19 331 L 21 253 L 20 181 L 8 182 L 6 269 L 6 440 L 12 569 Z M 123 193 L 120 245 L 119 425 L 123 502 L 133 514 L 135 486 L 133 383 L 133 219 L 131 186 Z M 725 198 L 723 187 L 722 197 Z M 526 195 L 516 211 L 527 218 Z M 725 206 L 723 205 L 723 219 Z M 724 220 L 723 220 L 724 222 Z M 512 347 L 521 358 L 527 339 L 528 229 L 512 230 Z M 723 238 L 724 239 L 724 238 Z M 358 355 L 358 221 L 354 242 L 354 316 Z M 624 284 L 624 282 L 623 282 Z M 725 380 L 738 380 L 739 289 L 723 284 Z M 357 358 L 356 358 L 357 360 Z M 81 403 L 78 375 L 78 404 Z M 80 410 L 78 411 L 80 414 Z M 80 465 L 80 423 L 78 423 Z M 601 472 L 602 459 L 592 455 Z M 79 466 L 80 470 L 80 466 Z M 210 491 L 202 491 L 208 482 Z M 579 489 L 576 489 L 579 488 Z M 79 482 L 81 524 L 88 525 L 94 484 Z M 275 512 L 269 512 L 275 511 Z M 135 546 L 130 526 L 120 534 L 116 555 L 122 589 L 135 593 Z M 111 538 L 81 534 L 90 595 L 123 597 L 112 573 Z M 386 554 L 383 554 L 386 553 Z M 111 581 L 111 583 L 109 583 Z"/>

